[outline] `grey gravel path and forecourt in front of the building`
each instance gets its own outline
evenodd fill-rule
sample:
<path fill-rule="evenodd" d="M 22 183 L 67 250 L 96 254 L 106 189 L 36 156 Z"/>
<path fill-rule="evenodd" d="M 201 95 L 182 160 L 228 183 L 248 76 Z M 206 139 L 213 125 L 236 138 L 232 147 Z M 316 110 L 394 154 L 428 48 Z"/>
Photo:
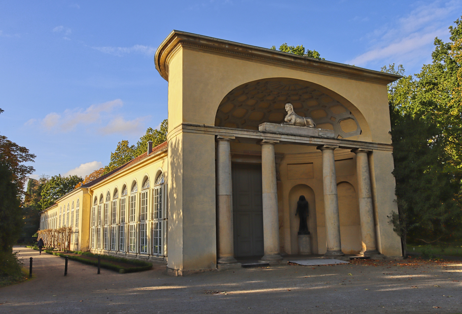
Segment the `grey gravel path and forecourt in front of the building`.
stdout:
<path fill-rule="evenodd" d="M 119 274 L 29 248 L 35 277 L 0 288 L 0 313 L 462 313 L 462 264 L 358 261 L 170 277 Z M 375 263 L 375 264 L 374 264 Z M 414 287 L 413 287 L 414 286 Z M 218 293 L 217 293 L 218 292 Z M 437 308 L 434 308 L 437 307 Z"/>

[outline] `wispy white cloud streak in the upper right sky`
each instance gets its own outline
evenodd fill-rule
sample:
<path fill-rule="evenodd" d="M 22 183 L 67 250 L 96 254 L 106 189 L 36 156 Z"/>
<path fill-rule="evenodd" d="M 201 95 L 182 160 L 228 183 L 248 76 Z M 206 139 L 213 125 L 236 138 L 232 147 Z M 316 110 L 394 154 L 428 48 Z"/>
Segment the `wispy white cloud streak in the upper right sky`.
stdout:
<path fill-rule="evenodd" d="M 419 6 L 406 17 L 394 21 L 393 27 L 384 25 L 367 34 L 366 39 L 371 44 L 369 50 L 346 63 L 366 66 L 378 61 L 385 64 L 428 56 L 434 38 L 448 34 L 448 17 L 461 7 L 461 3 L 454 0 L 443 4 L 437 0 Z"/>

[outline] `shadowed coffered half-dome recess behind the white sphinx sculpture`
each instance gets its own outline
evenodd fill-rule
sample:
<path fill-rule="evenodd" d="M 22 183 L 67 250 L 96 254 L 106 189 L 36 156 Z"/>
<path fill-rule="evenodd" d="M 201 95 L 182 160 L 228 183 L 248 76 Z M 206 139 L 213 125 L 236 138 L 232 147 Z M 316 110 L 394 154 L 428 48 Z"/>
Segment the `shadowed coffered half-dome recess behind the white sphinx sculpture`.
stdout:
<path fill-rule="evenodd" d="M 264 122 L 282 123 L 286 103 L 292 103 L 298 115 L 312 118 L 316 127 L 334 130 L 336 138 L 369 132 L 363 115 L 345 98 L 321 85 L 290 78 L 237 86 L 219 104 L 215 126 L 258 130 Z"/>

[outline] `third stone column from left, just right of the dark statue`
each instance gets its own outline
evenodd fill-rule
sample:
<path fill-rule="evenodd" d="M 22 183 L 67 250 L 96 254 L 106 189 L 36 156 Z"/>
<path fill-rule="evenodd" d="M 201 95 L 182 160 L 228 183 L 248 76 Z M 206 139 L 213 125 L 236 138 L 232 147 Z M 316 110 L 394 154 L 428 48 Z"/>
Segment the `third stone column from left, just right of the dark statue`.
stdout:
<path fill-rule="evenodd" d="M 335 175 L 335 146 L 322 145 L 322 185 L 324 190 L 324 213 L 326 218 L 327 251 L 324 256 L 344 256 L 340 242 L 339 200 Z"/>

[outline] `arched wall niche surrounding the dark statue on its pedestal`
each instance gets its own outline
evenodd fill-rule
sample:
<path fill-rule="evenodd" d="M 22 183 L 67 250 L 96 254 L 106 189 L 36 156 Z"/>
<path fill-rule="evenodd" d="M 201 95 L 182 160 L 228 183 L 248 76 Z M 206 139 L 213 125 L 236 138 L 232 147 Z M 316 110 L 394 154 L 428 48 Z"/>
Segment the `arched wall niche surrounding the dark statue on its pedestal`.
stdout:
<path fill-rule="evenodd" d="M 311 252 L 318 253 L 317 245 L 317 223 L 316 223 L 316 199 L 313 189 L 306 184 L 298 184 L 291 188 L 289 192 L 289 217 L 290 217 L 290 237 L 291 252 L 289 254 L 298 254 L 298 227 L 300 223 L 299 216 L 295 216 L 297 211 L 297 201 L 300 195 L 304 195 L 308 201 L 308 230 L 311 234 Z"/>

